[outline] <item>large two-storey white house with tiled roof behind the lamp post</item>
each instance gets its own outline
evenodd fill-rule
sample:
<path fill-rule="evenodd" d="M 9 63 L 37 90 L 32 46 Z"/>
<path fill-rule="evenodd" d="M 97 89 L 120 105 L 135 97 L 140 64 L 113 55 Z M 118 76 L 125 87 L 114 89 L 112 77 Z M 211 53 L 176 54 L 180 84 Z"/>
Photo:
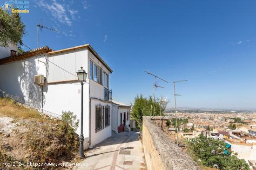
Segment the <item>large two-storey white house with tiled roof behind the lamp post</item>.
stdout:
<path fill-rule="evenodd" d="M 89 44 L 55 51 L 45 46 L 39 49 L 39 54 L 37 57 L 35 49 L 21 55 L 0 57 L 0 89 L 20 96 L 24 104 L 43 113 L 60 117 L 62 111 L 71 111 L 80 120 L 81 84 L 76 72 L 83 67 L 88 73 L 83 85 L 84 147 L 110 137 L 112 91 L 109 90 L 109 74 L 112 69 Z M 43 75 L 43 85 L 34 83 L 35 75 Z M 80 129 L 79 126 L 78 134 Z"/>

